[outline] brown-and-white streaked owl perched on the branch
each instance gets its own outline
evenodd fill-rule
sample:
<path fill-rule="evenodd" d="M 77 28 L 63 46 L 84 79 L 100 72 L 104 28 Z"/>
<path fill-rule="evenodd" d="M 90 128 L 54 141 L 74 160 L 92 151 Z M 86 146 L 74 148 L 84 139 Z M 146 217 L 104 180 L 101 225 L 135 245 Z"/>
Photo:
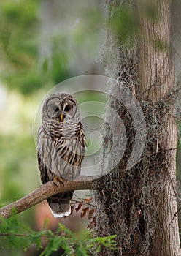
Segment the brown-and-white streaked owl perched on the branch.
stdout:
<path fill-rule="evenodd" d="M 85 147 L 85 131 L 76 99 L 69 94 L 50 95 L 42 107 L 42 126 L 37 143 L 42 184 L 61 177 L 74 179 L 79 176 Z M 47 198 L 55 217 L 71 213 L 73 192 L 62 192 Z"/>

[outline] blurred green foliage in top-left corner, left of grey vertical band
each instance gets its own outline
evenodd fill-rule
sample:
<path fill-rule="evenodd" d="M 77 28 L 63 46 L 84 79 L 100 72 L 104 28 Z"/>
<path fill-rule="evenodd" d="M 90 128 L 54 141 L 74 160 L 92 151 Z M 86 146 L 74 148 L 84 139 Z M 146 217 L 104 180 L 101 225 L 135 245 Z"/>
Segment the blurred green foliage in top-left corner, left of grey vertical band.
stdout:
<path fill-rule="evenodd" d="M 0 10 L 0 50 L 6 67 L 1 78 L 9 87 L 27 94 L 42 84 L 34 70 L 38 52 L 38 4 L 32 0 L 1 1 Z"/>

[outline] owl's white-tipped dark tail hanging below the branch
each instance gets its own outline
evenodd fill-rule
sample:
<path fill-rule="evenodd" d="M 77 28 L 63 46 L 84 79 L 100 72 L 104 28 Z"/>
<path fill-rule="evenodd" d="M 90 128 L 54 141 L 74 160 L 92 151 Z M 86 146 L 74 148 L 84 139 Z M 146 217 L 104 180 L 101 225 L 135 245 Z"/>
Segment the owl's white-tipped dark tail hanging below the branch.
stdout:
<path fill-rule="evenodd" d="M 71 214 L 70 200 L 72 198 L 73 192 L 63 192 L 52 197 L 47 198 L 47 202 L 51 208 L 53 216 L 64 217 Z"/>

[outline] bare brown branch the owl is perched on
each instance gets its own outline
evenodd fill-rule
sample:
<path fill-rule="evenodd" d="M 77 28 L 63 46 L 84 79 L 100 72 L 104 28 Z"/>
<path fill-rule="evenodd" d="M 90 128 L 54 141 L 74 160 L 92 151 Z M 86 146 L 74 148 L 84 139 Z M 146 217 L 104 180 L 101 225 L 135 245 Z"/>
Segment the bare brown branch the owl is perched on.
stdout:
<path fill-rule="evenodd" d="M 91 177 L 93 178 L 93 177 Z M 82 181 L 83 179 L 83 181 Z M 23 198 L 10 203 L 7 206 L 4 206 L 0 209 L 0 216 L 4 218 L 9 218 L 12 213 L 12 208 L 15 208 L 17 214 L 22 211 L 25 211 L 32 206 L 42 202 L 51 195 L 58 194 L 60 192 L 68 192 L 72 190 L 81 190 L 81 189 L 96 189 L 96 181 L 99 177 L 96 177 L 94 180 L 90 180 L 88 176 L 85 178 L 77 177 L 74 181 L 63 180 L 63 185 L 58 185 L 57 187 L 53 184 L 53 181 L 49 181 L 46 184 L 43 184 L 39 188 L 35 189 L 33 192 L 29 193 Z"/>

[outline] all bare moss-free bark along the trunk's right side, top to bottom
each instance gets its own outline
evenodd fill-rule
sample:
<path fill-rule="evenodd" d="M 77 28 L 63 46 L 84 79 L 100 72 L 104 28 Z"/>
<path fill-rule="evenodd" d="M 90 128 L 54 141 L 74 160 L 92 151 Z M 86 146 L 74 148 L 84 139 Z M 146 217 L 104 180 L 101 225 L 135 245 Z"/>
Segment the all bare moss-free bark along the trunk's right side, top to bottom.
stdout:
<path fill-rule="evenodd" d="M 140 85 L 137 96 L 151 102 L 169 102 L 174 88 L 174 56 L 171 48 L 171 1 L 139 1 L 139 7 L 153 5 L 157 17 L 150 20 L 141 15 L 142 37 L 139 44 Z M 144 68 L 143 68 L 144 67 Z M 160 124 L 163 135 L 158 138 L 158 147 L 177 148 L 177 126 L 174 102 L 169 105 L 169 115 Z M 166 152 L 168 154 L 168 152 Z M 160 159 L 160 163 L 165 159 Z M 167 173 L 168 182 L 158 195 L 160 204 L 157 212 L 155 238 L 152 241 L 152 255 L 181 255 L 176 198 L 176 151 L 169 151 L 166 165 L 161 167 Z M 174 222 L 171 219 L 174 217 Z"/>

